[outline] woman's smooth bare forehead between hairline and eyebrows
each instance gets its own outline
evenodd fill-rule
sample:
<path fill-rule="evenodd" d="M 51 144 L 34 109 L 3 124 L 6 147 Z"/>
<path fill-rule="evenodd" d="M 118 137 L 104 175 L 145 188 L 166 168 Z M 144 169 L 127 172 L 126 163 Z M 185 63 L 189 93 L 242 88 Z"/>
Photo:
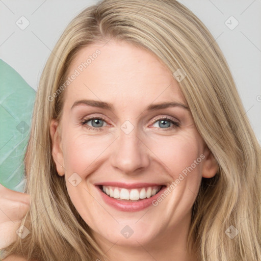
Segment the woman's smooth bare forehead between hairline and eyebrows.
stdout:
<path fill-rule="evenodd" d="M 68 70 L 72 78 L 65 101 L 99 99 L 117 105 L 161 101 L 186 104 L 168 67 L 150 51 L 125 41 L 110 40 L 82 48 Z"/>

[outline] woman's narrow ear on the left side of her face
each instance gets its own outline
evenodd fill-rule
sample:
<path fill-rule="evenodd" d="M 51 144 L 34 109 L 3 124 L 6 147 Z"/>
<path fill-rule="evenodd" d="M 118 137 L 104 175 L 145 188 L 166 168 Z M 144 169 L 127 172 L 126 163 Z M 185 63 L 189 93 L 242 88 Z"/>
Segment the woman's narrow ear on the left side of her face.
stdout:
<path fill-rule="evenodd" d="M 51 123 L 50 123 L 50 136 L 51 136 L 51 155 L 54 158 L 58 174 L 60 176 L 63 176 L 64 159 L 63 159 L 61 134 L 59 132 L 59 123 L 54 119 L 51 119 Z"/>

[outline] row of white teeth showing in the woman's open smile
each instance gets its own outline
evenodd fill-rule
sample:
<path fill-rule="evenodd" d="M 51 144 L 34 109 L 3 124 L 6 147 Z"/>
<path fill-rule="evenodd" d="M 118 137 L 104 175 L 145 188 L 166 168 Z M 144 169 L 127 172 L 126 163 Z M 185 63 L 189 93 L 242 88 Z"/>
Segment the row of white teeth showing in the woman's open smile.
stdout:
<path fill-rule="evenodd" d="M 125 189 L 113 186 L 98 185 L 98 188 L 107 196 L 115 198 L 120 201 L 141 201 L 143 199 L 151 198 L 159 193 L 162 188 L 166 186 L 151 186 L 137 189 Z"/>

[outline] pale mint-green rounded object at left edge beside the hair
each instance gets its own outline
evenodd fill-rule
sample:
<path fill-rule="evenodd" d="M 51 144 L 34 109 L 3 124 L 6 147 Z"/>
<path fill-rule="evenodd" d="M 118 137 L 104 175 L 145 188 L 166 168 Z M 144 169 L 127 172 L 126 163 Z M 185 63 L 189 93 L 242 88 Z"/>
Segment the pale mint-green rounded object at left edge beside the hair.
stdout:
<path fill-rule="evenodd" d="M 23 192 L 23 158 L 30 136 L 35 90 L 0 59 L 0 182 Z"/>

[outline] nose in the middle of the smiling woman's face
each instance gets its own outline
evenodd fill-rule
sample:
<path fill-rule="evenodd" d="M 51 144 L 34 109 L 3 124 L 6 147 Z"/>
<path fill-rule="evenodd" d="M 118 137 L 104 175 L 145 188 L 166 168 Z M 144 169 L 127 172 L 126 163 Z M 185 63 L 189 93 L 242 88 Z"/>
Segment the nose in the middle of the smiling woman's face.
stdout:
<path fill-rule="evenodd" d="M 136 128 L 129 134 L 120 131 L 115 141 L 111 164 L 128 175 L 137 175 L 149 166 L 149 149 L 144 139 L 138 137 Z"/>

